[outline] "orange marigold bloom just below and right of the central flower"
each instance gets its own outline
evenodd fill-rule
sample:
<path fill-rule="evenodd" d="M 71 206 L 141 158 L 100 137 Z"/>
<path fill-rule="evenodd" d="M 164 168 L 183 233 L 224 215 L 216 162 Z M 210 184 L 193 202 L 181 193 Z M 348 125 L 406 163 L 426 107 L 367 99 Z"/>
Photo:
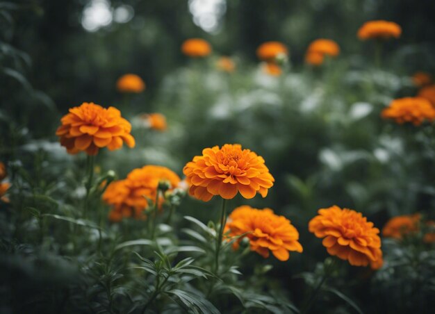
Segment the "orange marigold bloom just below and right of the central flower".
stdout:
<path fill-rule="evenodd" d="M 240 206 L 229 215 L 225 226 L 228 236 L 241 236 L 249 239 L 251 251 L 267 258 L 269 250 L 279 259 L 287 261 L 290 254 L 288 251 L 303 251 L 299 243 L 299 233 L 296 228 L 284 216 L 275 215 L 270 208 L 262 210 L 251 206 Z M 234 247 L 238 247 L 239 238 Z"/>

